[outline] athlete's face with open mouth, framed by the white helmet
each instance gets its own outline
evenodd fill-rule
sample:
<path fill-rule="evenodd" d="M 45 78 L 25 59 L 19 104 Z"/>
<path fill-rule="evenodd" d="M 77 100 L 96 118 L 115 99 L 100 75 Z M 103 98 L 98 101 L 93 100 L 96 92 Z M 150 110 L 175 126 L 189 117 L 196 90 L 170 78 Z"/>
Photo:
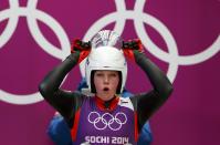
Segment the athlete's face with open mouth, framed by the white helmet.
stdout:
<path fill-rule="evenodd" d="M 119 74 L 117 71 L 95 71 L 94 84 L 96 95 L 103 101 L 114 97 L 119 83 Z"/>

